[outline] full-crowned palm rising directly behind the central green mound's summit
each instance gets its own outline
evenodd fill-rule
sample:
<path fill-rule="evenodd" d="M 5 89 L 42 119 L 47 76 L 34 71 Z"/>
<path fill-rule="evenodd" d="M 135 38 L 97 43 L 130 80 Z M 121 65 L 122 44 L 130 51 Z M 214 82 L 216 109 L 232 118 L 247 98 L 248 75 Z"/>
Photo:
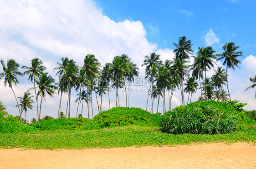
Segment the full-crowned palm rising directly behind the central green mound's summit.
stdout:
<path fill-rule="evenodd" d="M 123 77 L 126 72 L 128 72 L 127 63 L 123 62 L 120 56 L 114 57 L 112 63 L 110 63 L 109 74 L 113 81 L 112 87 L 116 89 L 116 107 L 120 106 L 118 88 L 123 88 Z"/>

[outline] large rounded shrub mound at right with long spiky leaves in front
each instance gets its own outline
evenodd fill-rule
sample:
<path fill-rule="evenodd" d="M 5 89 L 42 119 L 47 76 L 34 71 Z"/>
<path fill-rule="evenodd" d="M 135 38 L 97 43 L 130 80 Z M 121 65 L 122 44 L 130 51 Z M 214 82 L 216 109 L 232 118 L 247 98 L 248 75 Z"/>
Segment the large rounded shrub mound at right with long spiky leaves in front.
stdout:
<path fill-rule="evenodd" d="M 241 106 L 241 105 L 240 105 Z M 234 103 L 197 101 L 168 111 L 160 121 L 163 132 L 172 134 L 218 134 L 238 130 L 238 122 L 246 119 L 241 107 Z"/>

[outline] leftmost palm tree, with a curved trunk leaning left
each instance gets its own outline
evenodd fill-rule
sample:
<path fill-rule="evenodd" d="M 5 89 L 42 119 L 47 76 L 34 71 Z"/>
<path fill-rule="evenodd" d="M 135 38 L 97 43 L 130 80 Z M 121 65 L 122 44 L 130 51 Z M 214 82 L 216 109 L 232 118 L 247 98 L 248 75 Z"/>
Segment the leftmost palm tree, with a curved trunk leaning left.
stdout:
<path fill-rule="evenodd" d="M 16 63 L 14 59 L 7 60 L 7 67 L 5 66 L 5 62 L 2 59 L 1 59 L 1 64 L 3 66 L 4 72 L 0 73 L 0 79 L 1 79 L 1 77 L 5 76 L 5 86 L 8 84 L 14 94 L 14 97 L 17 101 L 18 109 L 20 112 L 20 121 L 22 122 L 19 102 L 18 102 L 15 92 L 13 91 L 13 88 L 12 88 L 12 83 L 14 83 L 15 86 L 17 85 L 17 83 L 19 83 L 18 76 L 23 76 L 23 74 L 18 71 L 18 68 L 20 67 L 20 65 L 19 65 L 19 63 Z"/>

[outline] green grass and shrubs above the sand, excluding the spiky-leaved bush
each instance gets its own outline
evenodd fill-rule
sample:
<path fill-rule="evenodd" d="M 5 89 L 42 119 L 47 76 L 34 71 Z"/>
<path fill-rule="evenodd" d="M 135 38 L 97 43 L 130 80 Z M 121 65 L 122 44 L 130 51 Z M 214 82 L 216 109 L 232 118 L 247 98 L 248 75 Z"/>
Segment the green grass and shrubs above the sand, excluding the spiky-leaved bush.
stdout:
<path fill-rule="evenodd" d="M 177 135 L 162 132 L 159 129 L 159 122 L 170 116 L 170 111 L 161 116 L 150 114 L 140 108 L 115 107 L 108 111 L 102 111 L 91 120 L 60 118 L 39 121 L 30 125 L 21 123 L 17 117 L 11 115 L 4 117 L 1 113 L 0 148 L 83 149 L 147 145 L 172 146 L 212 142 L 255 142 L 256 121 L 251 116 L 247 116 L 250 113 L 236 110 L 238 107 L 241 109 L 243 104 L 235 102 L 201 101 L 173 109 L 173 112 L 179 115 L 184 113 L 184 110 L 197 107 L 200 112 L 212 113 L 209 116 L 215 117 L 215 114 L 218 113 L 221 116 L 228 117 L 232 114 L 236 117 L 235 131 L 229 130 L 231 132 L 228 132 L 226 130 L 226 132 L 222 132 L 226 134 L 219 132 L 215 135 L 192 134 L 193 132 Z M 187 112 L 186 115 L 190 116 L 191 114 L 195 113 L 189 114 Z"/>

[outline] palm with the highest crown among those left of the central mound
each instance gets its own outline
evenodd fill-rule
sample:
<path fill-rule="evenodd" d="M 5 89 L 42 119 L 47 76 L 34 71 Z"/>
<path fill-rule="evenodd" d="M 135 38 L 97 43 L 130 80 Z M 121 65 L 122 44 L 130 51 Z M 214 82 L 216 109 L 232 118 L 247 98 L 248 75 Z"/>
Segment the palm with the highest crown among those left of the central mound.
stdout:
<path fill-rule="evenodd" d="M 92 81 L 94 78 L 98 78 L 101 64 L 98 62 L 98 59 L 95 58 L 93 54 L 87 54 L 84 58 L 84 63 L 82 69 L 85 71 L 87 77 L 87 93 L 89 92 L 89 81 Z M 88 119 L 90 119 L 90 105 L 87 95 L 87 108 L 88 108 Z"/>

